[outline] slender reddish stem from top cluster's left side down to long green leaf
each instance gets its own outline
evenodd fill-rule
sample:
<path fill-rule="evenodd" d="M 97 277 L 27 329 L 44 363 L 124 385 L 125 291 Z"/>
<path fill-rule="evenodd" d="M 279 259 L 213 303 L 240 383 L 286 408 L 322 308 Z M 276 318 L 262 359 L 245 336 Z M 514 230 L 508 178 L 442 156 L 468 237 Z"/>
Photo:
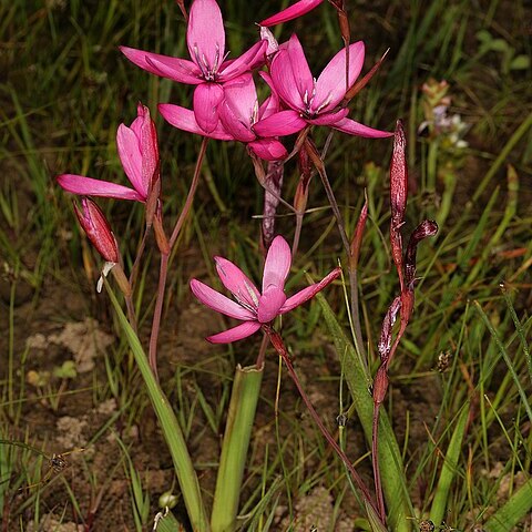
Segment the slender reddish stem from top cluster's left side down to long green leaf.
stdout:
<path fill-rule="evenodd" d="M 202 145 L 200 147 L 200 153 L 197 154 L 196 160 L 196 167 L 194 168 L 194 176 L 192 177 L 191 188 L 188 190 L 188 195 L 186 196 L 185 205 L 183 206 L 183 211 L 175 223 L 174 231 L 172 232 L 172 236 L 170 237 L 168 248 L 170 253 L 162 253 L 161 254 L 161 267 L 158 273 L 158 288 L 157 288 L 157 298 L 155 300 L 155 310 L 153 313 L 153 321 L 152 321 L 152 334 L 150 336 L 150 351 L 149 351 L 149 360 L 150 367 L 152 368 L 153 375 L 158 380 L 157 376 L 157 340 L 158 340 L 158 331 L 161 329 L 161 316 L 163 314 L 163 303 L 164 303 L 164 291 L 166 288 L 166 277 L 168 275 L 168 259 L 172 253 L 172 248 L 174 247 L 175 241 L 180 236 L 180 232 L 188 217 L 188 213 L 191 212 L 192 203 L 194 201 L 194 196 L 196 194 L 197 184 L 200 182 L 200 175 L 202 170 L 203 158 L 205 156 L 205 152 L 207 149 L 208 139 L 204 137 L 202 141 Z"/>

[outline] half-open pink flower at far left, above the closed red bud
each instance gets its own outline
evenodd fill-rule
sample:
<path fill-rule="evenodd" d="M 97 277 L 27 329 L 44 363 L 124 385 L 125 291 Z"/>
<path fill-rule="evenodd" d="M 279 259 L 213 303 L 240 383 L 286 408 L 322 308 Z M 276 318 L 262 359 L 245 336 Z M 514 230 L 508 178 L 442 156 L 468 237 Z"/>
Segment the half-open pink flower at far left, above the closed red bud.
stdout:
<path fill-rule="evenodd" d="M 160 180 L 157 132 L 146 106 L 139 103 L 137 117 L 131 127 L 119 125 L 116 147 L 133 188 L 74 174 L 60 175 L 58 183 L 73 194 L 146 203 Z"/>

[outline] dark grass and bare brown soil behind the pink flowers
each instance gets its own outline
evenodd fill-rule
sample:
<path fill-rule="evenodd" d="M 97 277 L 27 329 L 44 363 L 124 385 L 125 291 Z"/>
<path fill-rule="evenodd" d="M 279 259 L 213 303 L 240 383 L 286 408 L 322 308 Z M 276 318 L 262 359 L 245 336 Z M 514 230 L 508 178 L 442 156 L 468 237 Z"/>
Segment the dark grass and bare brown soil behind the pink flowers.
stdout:
<path fill-rule="evenodd" d="M 237 54 L 257 38 L 254 22 L 282 3 L 228 0 L 221 7 L 227 48 Z M 379 74 L 352 102 L 351 115 L 389 130 L 397 117 L 405 120 L 408 226 L 427 216 L 443 221 L 439 236 L 420 252 L 417 308 L 391 368 L 386 405 L 408 468 L 412 530 L 438 492 L 442 464 L 449 467 L 442 457 L 456 427 L 463 433 L 441 518 L 459 530 L 480 530 L 495 509 L 515 501 L 519 488 L 532 490 L 531 7 L 523 0 L 359 0 L 348 2 L 348 10 L 354 40 L 366 42 L 366 71 L 390 49 Z M 314 51 L 315 72 L 341 45 L 335 10 L 326 2 L 277 33 L 284 40 L 291 31 Z M 141 71 L 117 50 L 126 44 L 183 57 L 184 33 L 171 1 L 0 6 L 0 439 L 23 442 L 0 444 L 2 532 L 55 530 L 52 522 L 83 524 L 80 530 L 142 530 L 150 526 L 161 493 L 173 489 L 178 495 L 125 340 L 106 297 L 94 294 L 100 258 L 80 235 L 71 198 L 54 176 L 69 171 L 123 180 L 115 132 L 133 120 L 136 102 L 154 115 L 158 102 L 190 106 L 190 88 Z M 433 109 L 422 91 L 430 79 L 449 84 L 449 113 L 463 123 L 458 137 L 422 126 Z M 201 141 L 161 117 L 157 125 L 166 216 L 175 219 Z M 318 143 L 324 139 L 318 134 Z M 338 133 L 327 156 L 351 229 L 368 193 L 360 282 L 364 336 L 376 364 L 382 317 L 397 293 L 387 239 L 390 147 L 387 141 Z M 289 165 L 287 201 L 297 177 Z M 243 147 L 212 143 L 193 216 L 172 262 L 161 380 L 178 406 L 207 491 L 214 489 L 233 368 L 254 360 L 259 340 L 206 345 L 203 337 L 223 324 L 193 301 L 187 282 L 194 276 L 214 283 L 208 277 L 216 254 L 258 278 L 259 255 L 249 249 L 258 246 L 260 221 L 253 216 L 262 212 L 262 196 Z M 104 208 L 131 257 L 143 223 L 140 206 L 108 202 Z M 278 231 L 289 238 L 294 217 L 279 214 Z M 293 288 L 305 282 L 303 270 L 316 276 L 329 270 L 341 256 L 340 244 L 315 181 Z M 146 326 L 157 260 L 156 252 L 145 260 L 137 295 Z M 347 330 L 341 287 L 326 296 Z M 334 428 L 349 399 L 320 306 L 298 309 L 284 330 L 309 395 Z M 94 346 L 92 360 L 88 351 Z M 86 360 L 89 369 L 82 366 Z M 320 531 L 355 530 L 360 512 L 344 469 L 284 376 L 276 427 L 277 377 L 277 357 L 270 354 L 244 489 L 245 530 L 314 524 Z M 464 406 L 469 415 L 460 423 Z M 359 457 L 361 471 L 369 473 L 356 419 L 341 430 L 349 456 Z M 69 467 L 50 468 L 53 453 L 66 452 Z M 25 488 L 31 484 L 37 485 Z M 497 530 L 532 526 L 530 518 L 507 523 Z"/>

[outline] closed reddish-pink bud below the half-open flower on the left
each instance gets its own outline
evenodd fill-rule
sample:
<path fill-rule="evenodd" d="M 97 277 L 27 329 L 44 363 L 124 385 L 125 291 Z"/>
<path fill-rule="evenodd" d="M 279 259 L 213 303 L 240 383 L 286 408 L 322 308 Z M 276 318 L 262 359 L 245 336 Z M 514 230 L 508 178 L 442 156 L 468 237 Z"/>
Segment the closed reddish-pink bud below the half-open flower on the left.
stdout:
<path fill-rule="evenodd" d="M 81 208 L 74 203 L 80 225 L 98 253 L 108 262 L 116 264 L 120 259 L 116 238 L 100 207 L 88 197 L 81 200 Z"/>

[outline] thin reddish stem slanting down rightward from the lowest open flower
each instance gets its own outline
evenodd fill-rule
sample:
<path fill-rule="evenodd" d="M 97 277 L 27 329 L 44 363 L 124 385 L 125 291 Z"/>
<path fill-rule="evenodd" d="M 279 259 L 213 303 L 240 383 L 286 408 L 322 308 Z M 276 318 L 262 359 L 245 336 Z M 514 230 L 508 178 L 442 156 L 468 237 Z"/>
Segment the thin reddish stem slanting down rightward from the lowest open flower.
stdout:
<path fill-rule="evenodd" d="M 294 366 L 291 365 L 291 360 L 288 356 L 288 351 L 286 350 L 283 338 L 273 327 L 270 327 L 268 325 L 264 325 L 263 329 L 268 335 L 269 340 L 272 341 L 272 345 L 274 346 L 275 350 L 283 358 L 283 360 L 286 365 L 286 368 L 288 369 L 288 374 L 290 375 L 291 380 L 296 385 L 297 391 L 301 396 L 301 399 L 305 402 L 305 406 L 307 407 L 308 411 L 310 412 L 310 416 L 313 417 L 314 421 L 318 426 L 319 430 L 324 434 L 327 442 L 335 450 L 335 452 L 338 454 L 338 457 L 341 459 L 341 461 L 346 464 L 347 469 L 349 470 L 349 472 L 351 474 L 352 480 L 355 481 L 358 489 L 362 493 L 364 499 L 377 512 L 377 509 L 375 508 L 375 503 L 371 500 L 371 495 L 369 493 L 368 487 L 365 484 L 364 480 L 357 473 L 357 471 L 356 471 L 355 467 L 352 466 L 351 461 L 349 460 L 349 458 L 346 456 L 346 453 L 341 450 L 340 446 L 336 442 L 336 440 L 332 438 L 330 432 L 327 430 L 327 428 L 323 423 L 321 419 L 319 418 L 318 412 L 316 411 L 313 403 L 310 402 L 310 399 L 308 398 L 305 390 L 303 389 L 301 383 L 299 381 L 299 378 L 298 378 L 298 376 L 297 376 L 297 374 L 294 369 Z"/>

